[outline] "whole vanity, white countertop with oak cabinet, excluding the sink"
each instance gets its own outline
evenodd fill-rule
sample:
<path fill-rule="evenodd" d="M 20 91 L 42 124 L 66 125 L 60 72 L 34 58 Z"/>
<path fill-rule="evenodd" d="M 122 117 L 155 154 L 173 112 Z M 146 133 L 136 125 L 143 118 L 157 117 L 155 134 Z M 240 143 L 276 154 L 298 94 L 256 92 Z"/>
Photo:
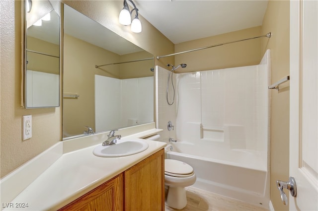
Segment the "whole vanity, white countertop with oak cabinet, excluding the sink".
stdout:
<path fill-rule="evenodd" d="M 136 140 L 161 131 L 154 129 L 154 123 L 146 126 L 119 130 L 118 134 L 122 134 L 119 141 Z M 164 210 L 166 143 L 140 139 L 149 147 L 137 154 L 94 155 L 94 148 L 107 139 L 107 134 L 61 141 L 7 175 L 1 181 L 2 194 L 17 194 L 13 200 L 1 197 L 7 198 L 8 201 L 3 201 L 5 205 L 13 206 L 2 209 Z M 15 207 L 19 203 L 28 207 Z"/>

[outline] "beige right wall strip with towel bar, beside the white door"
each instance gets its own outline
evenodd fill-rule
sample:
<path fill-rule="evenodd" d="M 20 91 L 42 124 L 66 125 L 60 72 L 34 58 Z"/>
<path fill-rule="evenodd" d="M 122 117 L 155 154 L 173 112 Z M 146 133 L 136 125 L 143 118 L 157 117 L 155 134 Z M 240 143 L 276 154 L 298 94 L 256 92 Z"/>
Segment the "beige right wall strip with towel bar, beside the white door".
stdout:
<path fill-rule="evenodd" d="M 263 19 L 262 33 L 272 32 L 268 42 L 262 42 L 262 52 L 271 50 L 272 83 L 289 75 L 289 4 L 289 1 L 270 0 Z M 289 180 L 289 84 L 280 88 L 270 91 L 270 195 L 276 211 L 287 211 L 289 206 L 283 205 L 276 180 Z"/>

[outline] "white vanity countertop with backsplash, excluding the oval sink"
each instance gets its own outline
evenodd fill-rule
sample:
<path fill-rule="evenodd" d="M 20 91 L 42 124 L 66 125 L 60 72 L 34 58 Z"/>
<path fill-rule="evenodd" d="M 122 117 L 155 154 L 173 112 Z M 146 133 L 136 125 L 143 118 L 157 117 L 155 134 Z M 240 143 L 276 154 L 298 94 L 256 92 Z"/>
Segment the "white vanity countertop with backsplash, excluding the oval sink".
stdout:
<path fill-rule="evenodd" d="M 153 127 L 152 127 L 153 126 Z M 117 134 L 138 139 L 158 133 L 155 124 L 121 129 Z M 143 130 L 145 127 L 152 127 Z M 108 133 L 61 141 L 1 180 L 1 210 L 58 210 L 119 173 L 159 151 L 166 144 L 143 140 L 148 149 L 124 157 L 97 157 L 92 151 Z M 12 204 L 9 204 L 12 203 Z M 16 203 L 27 203 L 17 208 Z"/>

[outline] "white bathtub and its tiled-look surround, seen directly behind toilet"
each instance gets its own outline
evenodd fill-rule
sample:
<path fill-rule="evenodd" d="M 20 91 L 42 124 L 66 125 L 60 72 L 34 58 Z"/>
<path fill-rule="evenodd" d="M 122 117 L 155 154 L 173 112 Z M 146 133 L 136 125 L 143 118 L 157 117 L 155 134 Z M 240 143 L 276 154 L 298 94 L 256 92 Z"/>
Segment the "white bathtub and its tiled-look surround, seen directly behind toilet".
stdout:
<path fill-rule="evenodd" d="M 177 140 L 166 158 L 194 168 L 194 187 L 268 209 L 270 51 L 259 65 L 175 74 L 170 107 L 160 83 L 168 70 L 156 70 L 156 124 L 165 129 L 159 141 Z M 166 130 L 168 120 L 173 132 Z"/>

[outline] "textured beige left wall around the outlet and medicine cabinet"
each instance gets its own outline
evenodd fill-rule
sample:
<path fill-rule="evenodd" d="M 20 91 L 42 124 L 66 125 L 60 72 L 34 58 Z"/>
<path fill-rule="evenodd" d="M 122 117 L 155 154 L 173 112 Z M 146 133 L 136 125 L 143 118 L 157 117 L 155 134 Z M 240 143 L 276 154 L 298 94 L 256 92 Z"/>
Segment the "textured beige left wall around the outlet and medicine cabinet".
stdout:
<path fill-rule="evenodd" d="M 1 177 L 61 141 L 61 109 L 24 109 L 21 95 L 21 3 L 1 1 Z M 5 8 L 5 9 L 3 9 Z M 22 141 L 22 116 L 32 115 L 32 138 Z"/>

